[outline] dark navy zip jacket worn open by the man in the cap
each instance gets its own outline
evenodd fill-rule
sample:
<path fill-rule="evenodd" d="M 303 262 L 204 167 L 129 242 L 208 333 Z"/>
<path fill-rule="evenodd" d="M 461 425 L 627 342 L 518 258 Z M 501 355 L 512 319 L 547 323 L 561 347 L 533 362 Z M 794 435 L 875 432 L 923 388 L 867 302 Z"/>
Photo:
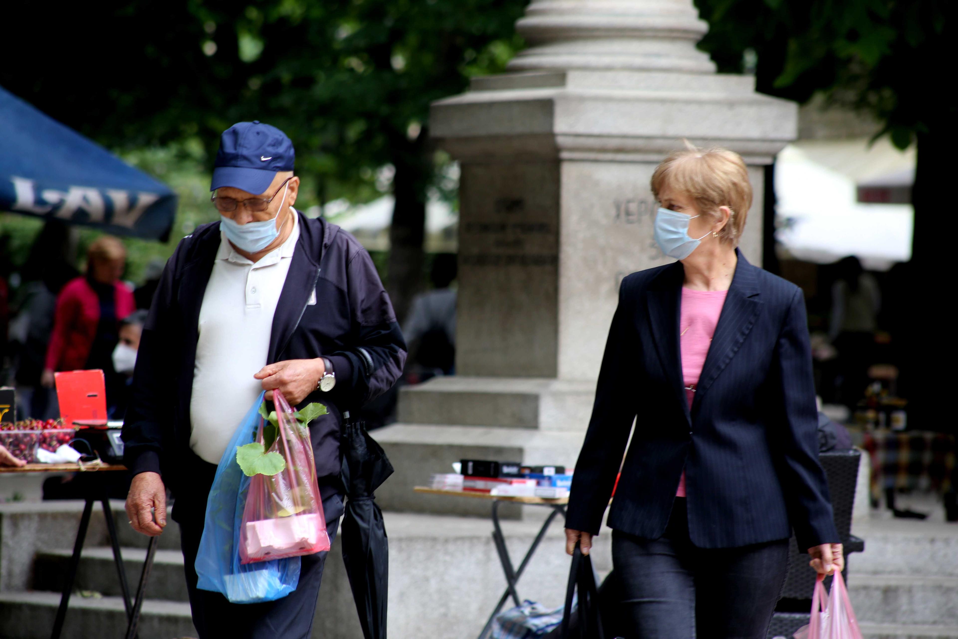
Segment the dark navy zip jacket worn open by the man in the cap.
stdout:
<path fill-rule="evenodd" d="M 303 401 L 319 401 L 330 412 L 309 424 L 325 499 L 337 489 L 342 412 L 393 385 L 406 347 L 366 250 L 335 224 L 299 216 L 300 237 L 273 316 L 266 363 L 320 355 L 331 359 L 335 387 Z M 174 492 L 189 487 L 189 477 L 178 471 L 193 455 L 190 399 L 199 309 L 218 247 L 219 222 L 204 224 L 180 240 L 163 271 L 136 357 L 123 430 L 124 462 L 133 474 L 161 472 Z M 316 304 L 309 305 L 313 290 Z"/>

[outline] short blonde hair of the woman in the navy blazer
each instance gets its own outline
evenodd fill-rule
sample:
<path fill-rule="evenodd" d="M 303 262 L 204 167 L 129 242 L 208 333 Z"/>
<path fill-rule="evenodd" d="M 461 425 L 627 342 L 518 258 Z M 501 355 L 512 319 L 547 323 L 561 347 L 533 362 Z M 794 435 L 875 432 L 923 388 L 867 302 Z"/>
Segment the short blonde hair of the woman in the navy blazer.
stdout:
<path fill-rule="evenodd" d="M 662 161 L 652 173 L 652 194 L 656 199 L 665 189 L 686 194 L 695 200 L 702 215 L 719 217 L 719 207 L 727 206 L 732 217 L 719 231 L 719 240 L 739 245 L 745 219 L 752 206 L 752 184 L 741 155 L 727 148 L 702 150 L 686 142 Z"/>

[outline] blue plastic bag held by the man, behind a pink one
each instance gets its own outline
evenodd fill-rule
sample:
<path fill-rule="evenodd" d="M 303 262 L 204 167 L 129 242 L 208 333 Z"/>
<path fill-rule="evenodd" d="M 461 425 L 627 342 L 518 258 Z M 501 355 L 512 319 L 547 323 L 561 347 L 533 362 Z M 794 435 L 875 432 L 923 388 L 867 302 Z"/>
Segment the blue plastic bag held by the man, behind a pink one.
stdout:
<path fill-rule="evenodd" d="M 300 558 L 239 563 L 239 529 L 250 478 L 237 464 L 237 448 L 256 440 L 262 423 L 256 399 L 239 422 L 226 452 L 219 460 L 217 475 L 206 503 L 203 536 L 196 553 L 197 588 L 222 593 L 234 604 L 259 604 L 281 599 L 299 583 Z"/>

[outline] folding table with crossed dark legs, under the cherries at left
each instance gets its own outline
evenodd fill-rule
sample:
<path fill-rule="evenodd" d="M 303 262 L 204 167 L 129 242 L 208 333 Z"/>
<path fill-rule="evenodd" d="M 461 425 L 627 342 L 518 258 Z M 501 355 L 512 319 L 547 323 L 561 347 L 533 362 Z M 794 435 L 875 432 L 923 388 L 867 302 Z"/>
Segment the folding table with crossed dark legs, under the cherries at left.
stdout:
<path fill-rule="evenodd" d="M 89 464 L 27 464 L 21 467 L 0 466 L 0 474 L 13 474 L 21 472 L 109 472 L 125 471 L 126 467 L 120 464 L 103 464 L 101 462 L 92 462 Z M 83 514 L 80 517 L 80 529 L 77 531 L 77 539 L 73 544 L 73 556 L 70 558 L 70 564 L 67 567 L 66 581 L 63 584 L 63 594 L 60 595 L 60 604 L 57 608 L 57 619 L 54 621 L 54 631 L 51 639 L 59 639 L 60 631 L 63 629 L 63 621 L 66 619 L 66 610 L 70 605 L 70 595 L 73 592 L 73 584 L 77 579 L 77 568 L 80 565 L 80 554 L 83 550 L 83 541 L 86 539 L 86 529 L 90 524 L 90 515 L 93 514 L 93 505 L 95 502 L 103 504 L 103 518 L 106 520 L 106 530 L 110 535 L 110 545 L 113 547 L 113 560 L 117 566 L 117 575 L 120 578 L 120 590 L 123 594 L 123 603 L 126 609 L 126 633 L 125 639 L 136 637 L 136 628 L 140 622 L 140 610 L 143 607 L 144 594 L 147 590 L 147 581 L 149 571 L 153 566 L 153 558 L 156 555 L 156 545 L 159 537 L 150 537 L 147 547 L 147 559 L 143 562 L 143 572 L 140 575 L 140 584 L 136 591 L 136 599 L 130 603 L 129 587 L 126 584 L 126 572 L 123 566 L 123 557 L 120 554 L 120 539 L 117 536 L 116 522 L 113 520 L 113 511 L 110 508 L 110 500 L 104 490 L 101 482 L 90 482 L 87 488 L 88 493 L 84 497 L 86 501 L 83 507 Z"/>

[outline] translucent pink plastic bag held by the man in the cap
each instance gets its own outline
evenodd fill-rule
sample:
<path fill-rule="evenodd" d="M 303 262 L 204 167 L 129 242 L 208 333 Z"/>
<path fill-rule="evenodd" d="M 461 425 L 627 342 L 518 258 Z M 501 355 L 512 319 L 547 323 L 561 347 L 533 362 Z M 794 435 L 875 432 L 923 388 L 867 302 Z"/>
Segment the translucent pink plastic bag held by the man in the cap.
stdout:
<path fill-rule="evenodd" d="M 250 479 L 239 528 L 239 562 L 312 555 L 330 549 L 323 501 L 308 428 L 296 421 L 283 394 L 273 392 L 278 433 L 268 452 L 278 452 L 285 468 Z M 263 444 L 261 421 L 257 442 Z"/>

